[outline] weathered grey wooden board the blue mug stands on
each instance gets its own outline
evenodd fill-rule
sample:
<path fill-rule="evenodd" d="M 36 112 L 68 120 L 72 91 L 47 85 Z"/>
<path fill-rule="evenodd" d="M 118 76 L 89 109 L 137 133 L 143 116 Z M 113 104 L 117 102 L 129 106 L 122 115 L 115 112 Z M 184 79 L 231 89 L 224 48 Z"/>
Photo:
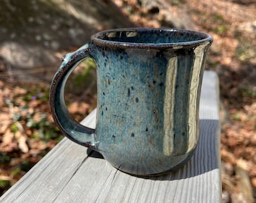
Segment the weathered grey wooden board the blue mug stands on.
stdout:
<path fill-rule="evenodd" d="M 82 123 L 94 127 L 95 115 Z M 219 136 L 218 78 L 205 71 L 200 141 L 183 168 L 160 177 L 134 177 L 64 138 L 0 202 L 221 202 Z"/>

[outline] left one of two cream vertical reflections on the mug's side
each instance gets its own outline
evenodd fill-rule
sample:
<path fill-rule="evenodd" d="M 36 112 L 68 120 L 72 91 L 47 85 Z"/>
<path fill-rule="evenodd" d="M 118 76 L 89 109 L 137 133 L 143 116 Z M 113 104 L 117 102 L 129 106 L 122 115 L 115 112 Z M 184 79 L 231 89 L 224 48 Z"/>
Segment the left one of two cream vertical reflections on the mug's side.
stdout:
<path fill-rule="evenodd" d="M 175 106 L 175 83 L 177 74 L 177 57 L 169 59 L 166 71 L 166 86 L 163 102 L 163 153 L 166 156 L 171 156 L 173 153 L 173 121 L 174 121 L 174 106 Z"/>

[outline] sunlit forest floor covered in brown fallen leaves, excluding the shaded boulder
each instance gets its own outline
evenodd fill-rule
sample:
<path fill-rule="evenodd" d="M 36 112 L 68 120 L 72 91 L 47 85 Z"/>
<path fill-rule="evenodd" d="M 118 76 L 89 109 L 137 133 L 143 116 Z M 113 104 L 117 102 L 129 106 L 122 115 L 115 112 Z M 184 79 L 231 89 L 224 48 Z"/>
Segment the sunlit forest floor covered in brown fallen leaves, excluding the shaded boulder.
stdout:
<path fill-rule="evenodd" d="M 253 202 L 256 198 L 254 1 L 113 2 L 136 26 L 175 26 L 209 32 L 213 36 L 206 69 L 216 71 L 220 81 L 222 198 L 223 202 Z M 61 56 L 75 48 L 56 54 Z M 1 59 L 0 72 L 1 195 L 52 149 L 62 135 L 56 129 L 48 108 L 50 84 L 13 80 L 8 64 Z M 75 79 L 71 79 L 73 82 L 79 83 L 78 74 L 94 78 L 95 73 L 78 71 Z M 84 98 L 79 92 L 74 95 L 74 92 L 67 90 L 69 111 L 76 119 L 83 119 L 96 107 L 95 88 L 93 83 L 83 94 Z"/>

